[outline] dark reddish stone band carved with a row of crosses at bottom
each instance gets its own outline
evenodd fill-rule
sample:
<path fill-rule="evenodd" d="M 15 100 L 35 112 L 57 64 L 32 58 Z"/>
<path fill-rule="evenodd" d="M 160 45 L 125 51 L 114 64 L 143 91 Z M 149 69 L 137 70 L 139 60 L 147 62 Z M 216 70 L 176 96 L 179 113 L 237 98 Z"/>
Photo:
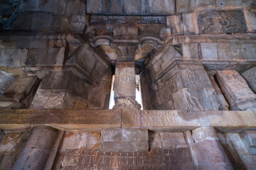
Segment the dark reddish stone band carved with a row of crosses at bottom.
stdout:
<path fill-rule="evenodd" d="M 142 167 L 172 166 L 175 168 L 192 166 L 188 148 L 154 149 L 151 152 L 101 152 L 99 150 L 83 149 L 65 152 L 63 167 L 74 169 L 104 168 L 110 169 L 142 169 Z"/>

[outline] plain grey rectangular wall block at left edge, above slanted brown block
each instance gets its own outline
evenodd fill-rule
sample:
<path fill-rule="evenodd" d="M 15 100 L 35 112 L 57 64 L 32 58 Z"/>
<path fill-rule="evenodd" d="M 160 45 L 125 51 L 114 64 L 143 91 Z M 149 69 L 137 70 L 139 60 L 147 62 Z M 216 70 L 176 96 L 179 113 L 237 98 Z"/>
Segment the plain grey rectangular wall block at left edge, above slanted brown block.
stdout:
<path fill-rule="evenodd" d="M 26 49 L 0 49 L 0 66 L 23 67 L 27 53 Z"/>

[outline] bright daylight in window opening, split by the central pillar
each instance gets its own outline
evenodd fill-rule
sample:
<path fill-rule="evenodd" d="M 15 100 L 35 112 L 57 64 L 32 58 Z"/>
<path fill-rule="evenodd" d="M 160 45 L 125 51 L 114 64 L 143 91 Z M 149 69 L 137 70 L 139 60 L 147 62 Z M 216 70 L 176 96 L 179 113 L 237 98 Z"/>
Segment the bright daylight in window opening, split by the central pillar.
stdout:
<path fill-rule="evenodd" d="M 141 90 L 139 75 L 136 75 L 136 99 L 135 100 L 142 106 L 142 90 Z M 113 106 L 114 106 L 114 75 L 112 76 L 109 109 L 112 109 Z M 141 109 L 143 110 L 143 106 Z"/>

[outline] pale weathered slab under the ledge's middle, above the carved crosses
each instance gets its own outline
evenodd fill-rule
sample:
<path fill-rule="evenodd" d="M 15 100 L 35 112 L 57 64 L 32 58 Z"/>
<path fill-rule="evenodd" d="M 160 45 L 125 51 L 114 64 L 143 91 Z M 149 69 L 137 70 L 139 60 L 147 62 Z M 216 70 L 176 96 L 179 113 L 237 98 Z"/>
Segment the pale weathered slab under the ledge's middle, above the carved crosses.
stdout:
<path fill-rule="evenodd" d="M 143 152 L 149 150 L 148 130 L 105 129 L 101 131 L 100 151 Z"/>

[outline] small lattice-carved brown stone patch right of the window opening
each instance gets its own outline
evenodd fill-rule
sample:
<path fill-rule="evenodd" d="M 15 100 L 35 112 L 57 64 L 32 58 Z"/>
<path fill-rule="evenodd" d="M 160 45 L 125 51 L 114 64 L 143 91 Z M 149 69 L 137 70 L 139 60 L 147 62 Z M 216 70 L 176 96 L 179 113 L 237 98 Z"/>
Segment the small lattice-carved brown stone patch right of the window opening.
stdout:
<path fill-rule="evenodd" d="M 159 95 L 164 103 L 171 100 L 171 95 L 177 91 L 175 76 L 167 80 L 165 83 L 159 83 Z"/>

